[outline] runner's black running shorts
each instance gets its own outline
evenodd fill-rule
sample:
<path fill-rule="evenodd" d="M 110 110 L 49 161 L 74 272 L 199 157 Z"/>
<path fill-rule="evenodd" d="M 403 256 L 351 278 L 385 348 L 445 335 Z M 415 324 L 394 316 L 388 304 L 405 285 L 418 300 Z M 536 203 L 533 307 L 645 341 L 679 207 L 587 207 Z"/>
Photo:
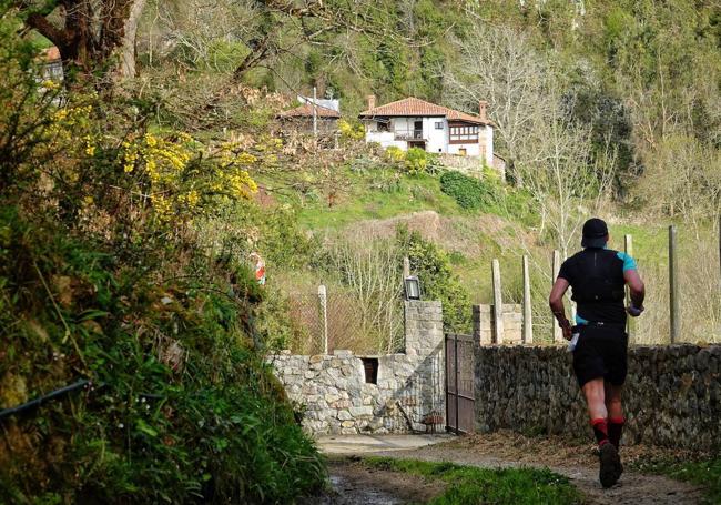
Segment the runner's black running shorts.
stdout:
<path fill-rule="evenodd" d="M 580 326 L 573 350 L 573 372 L 583 387 L 593 378 L 603 377 L 620 386 L 626 381 L 628 335 L 623 326 Z"/>

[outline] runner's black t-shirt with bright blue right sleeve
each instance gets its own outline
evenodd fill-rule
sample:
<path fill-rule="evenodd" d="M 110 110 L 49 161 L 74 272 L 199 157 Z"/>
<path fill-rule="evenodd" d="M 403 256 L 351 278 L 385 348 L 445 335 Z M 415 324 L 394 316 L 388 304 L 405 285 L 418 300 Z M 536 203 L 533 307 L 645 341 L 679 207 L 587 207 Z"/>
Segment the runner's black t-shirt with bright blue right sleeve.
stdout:
<path fill-rule="evenodd" d="M 623 272 L 631 269 L 631 256 L 610 249 L 587 248 L 563 262 L 558 276 L 571 285 L 577 324 L 626 324 Z"/>

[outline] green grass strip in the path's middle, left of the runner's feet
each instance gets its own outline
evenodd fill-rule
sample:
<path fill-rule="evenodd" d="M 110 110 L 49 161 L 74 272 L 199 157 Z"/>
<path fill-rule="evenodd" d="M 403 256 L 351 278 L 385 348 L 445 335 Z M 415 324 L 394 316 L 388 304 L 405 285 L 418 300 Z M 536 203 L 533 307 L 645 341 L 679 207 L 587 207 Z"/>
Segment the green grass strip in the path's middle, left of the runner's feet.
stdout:
<path fill-rule="evenodd" d="M 453 463 L 368 457 L 365 464 L 392 472 L 405 472 L 448 483 L 431 505 L 475 504 L 578 504 L 581 493 L 568 478 L 549 469 L 478 468 Z"/>

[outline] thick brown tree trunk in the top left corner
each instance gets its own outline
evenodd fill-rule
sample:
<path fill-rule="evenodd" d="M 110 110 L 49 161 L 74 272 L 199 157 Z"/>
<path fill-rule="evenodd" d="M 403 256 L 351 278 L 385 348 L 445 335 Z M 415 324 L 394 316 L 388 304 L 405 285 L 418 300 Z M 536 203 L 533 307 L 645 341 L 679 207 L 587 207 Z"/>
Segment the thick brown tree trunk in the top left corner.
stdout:
<path fill-rule="evenodd" d="M 80 70 L 135 74 L 135 33 L 146 0 L 16 0 L 26 30 L 60 50 L 65 75 Z M 114 60 L 114 61 L 113 61 Z"/>

